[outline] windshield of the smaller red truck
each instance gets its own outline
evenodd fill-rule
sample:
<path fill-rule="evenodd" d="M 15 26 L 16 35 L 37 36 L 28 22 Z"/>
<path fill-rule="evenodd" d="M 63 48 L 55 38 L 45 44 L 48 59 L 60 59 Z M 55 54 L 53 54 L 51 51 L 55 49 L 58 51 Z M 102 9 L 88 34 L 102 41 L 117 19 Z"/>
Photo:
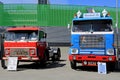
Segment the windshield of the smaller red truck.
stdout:
<path fill-rule="evenodd" d="M 6 41 L 36 41 L 38 40 L 36 32 L 7 32 L 5 33 Z"/>

